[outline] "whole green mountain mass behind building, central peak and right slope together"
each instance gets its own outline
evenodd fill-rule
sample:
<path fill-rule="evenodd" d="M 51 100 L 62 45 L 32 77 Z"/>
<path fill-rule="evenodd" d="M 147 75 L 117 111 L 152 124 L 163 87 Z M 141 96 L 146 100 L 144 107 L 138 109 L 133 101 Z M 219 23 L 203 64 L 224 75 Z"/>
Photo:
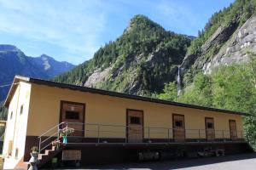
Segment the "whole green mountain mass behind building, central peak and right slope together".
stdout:
<path fill-rule="evenodd" d="M 256 1 L 219 10 L 198 37 L 178 35 L 143 15 L 123 35 L 57 82 L 247 112 L 256 149 Z"/>

